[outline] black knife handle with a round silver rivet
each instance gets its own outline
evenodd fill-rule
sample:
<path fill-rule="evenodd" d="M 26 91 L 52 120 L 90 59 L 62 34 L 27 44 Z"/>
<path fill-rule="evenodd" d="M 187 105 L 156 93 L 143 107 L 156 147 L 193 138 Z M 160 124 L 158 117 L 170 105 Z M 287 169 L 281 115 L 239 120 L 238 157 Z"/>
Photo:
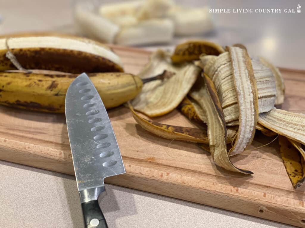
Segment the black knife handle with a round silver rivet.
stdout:
<path fill-rule="evenodd" d="M 81 204 L 81 208 L 83 209 L 85 228 L 108 228 L 106 219 L 97 200 L 84 202 Z M 98 225 L 96 225 L 97 223 Z"/>

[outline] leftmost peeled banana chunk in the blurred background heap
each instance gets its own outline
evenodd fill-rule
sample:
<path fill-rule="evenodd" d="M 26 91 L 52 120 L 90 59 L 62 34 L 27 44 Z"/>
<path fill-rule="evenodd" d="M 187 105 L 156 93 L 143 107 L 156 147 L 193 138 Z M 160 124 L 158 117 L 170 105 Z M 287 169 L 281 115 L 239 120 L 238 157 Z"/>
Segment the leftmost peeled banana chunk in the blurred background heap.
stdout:
<path fill-rule="evenodd" d="M 77 4 L 74 9 L 75 22 L 86 35 L 106 43 L 113 43 L 120 26 L 88 9 L 90 5 Z"/>

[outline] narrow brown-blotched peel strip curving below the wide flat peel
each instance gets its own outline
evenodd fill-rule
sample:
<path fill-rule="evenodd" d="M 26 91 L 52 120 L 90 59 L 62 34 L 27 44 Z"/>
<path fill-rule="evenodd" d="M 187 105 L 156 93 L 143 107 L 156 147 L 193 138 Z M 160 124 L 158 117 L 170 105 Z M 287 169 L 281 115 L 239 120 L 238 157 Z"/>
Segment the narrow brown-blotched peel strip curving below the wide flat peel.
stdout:
<path fill-rule="evenodd" d="M 171 126 L 167 124 L 161 124 L 152 122 L 150 120 L 144 119 L 139 116 L 129 104 L 131 113 L 135 121 L 145 130 L 166 139 L 172 140 L 184 140 L 188 142 L 195 143 L 205 143 L 208 144 L 207 133 L 204 129 L 191 128 L 191 127 L 181 127 L 181 126 Z"/>

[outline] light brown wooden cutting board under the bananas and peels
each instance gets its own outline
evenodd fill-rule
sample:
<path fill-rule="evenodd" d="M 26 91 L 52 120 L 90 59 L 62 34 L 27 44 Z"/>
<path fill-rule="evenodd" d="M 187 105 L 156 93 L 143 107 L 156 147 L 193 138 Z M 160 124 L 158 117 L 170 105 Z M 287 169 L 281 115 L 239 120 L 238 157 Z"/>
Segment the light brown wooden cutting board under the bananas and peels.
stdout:
<path fill-rule="evenodd" d="M 137 74 L 149 51 L 113 47 L 125 71 Z M 286 95 L 282 109 L 305 113 L 305 72 L 282 69 Z M 252 176 L 216 167 L 196 143 L 166 140 L 143 130 L 127 108 L 109 111 L 126 174 L 106 183 L 153 192 L 230 211 L 305 227 L 304 188 L 293 190 L 279 156 L 278 141 L 256 133 L 245 153 L 232 157 Z M 180 112 L 155 118 L 178 126 L 194 126 Z M 0 107 L 0 159 L 74 175 L 63 114 Z"/>

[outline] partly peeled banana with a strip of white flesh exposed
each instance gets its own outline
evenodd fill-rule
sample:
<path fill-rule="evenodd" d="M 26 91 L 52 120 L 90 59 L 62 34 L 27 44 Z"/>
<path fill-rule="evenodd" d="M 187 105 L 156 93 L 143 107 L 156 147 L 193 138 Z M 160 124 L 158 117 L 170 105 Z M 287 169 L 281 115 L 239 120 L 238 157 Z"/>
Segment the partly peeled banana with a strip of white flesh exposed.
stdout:
<path fill-rule="evenodd" d="M 15 70 L 18 65 L 69 73 L 123 71 L 123 64 L 113 51 L 88 39 L 56 36 L 0 39 L 0 71 Z"/>

